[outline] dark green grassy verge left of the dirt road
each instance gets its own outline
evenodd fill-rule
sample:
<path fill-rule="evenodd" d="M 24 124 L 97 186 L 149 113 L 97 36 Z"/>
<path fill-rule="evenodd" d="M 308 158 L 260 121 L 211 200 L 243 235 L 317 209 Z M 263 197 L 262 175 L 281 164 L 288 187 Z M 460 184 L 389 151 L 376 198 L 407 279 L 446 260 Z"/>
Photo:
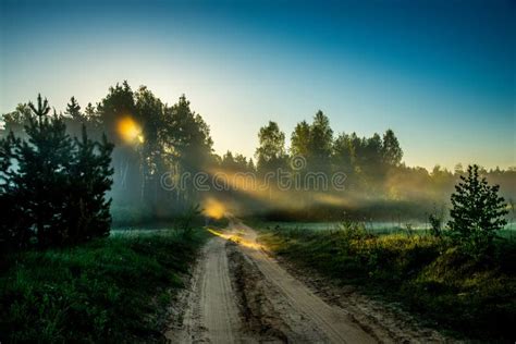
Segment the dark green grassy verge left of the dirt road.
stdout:
<path fill-rule="evenodd" d="M 0 342 L 159 342 L 167 307 L 208 234 L 114 235 L 8 255 Z"/>

